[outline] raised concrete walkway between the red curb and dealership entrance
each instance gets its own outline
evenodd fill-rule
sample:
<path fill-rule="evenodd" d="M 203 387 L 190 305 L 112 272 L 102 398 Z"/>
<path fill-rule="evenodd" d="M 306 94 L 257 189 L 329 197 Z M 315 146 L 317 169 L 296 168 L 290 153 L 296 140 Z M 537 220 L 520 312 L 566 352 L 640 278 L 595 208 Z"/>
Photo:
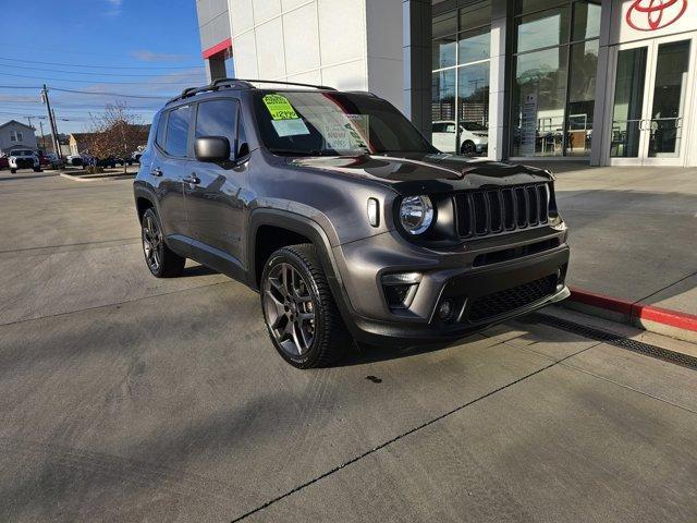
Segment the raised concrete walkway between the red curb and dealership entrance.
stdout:
<path fill-rule="evenodd" d="M 697 315 L 697 169 L 549 167 L 571 284 Z"/>

